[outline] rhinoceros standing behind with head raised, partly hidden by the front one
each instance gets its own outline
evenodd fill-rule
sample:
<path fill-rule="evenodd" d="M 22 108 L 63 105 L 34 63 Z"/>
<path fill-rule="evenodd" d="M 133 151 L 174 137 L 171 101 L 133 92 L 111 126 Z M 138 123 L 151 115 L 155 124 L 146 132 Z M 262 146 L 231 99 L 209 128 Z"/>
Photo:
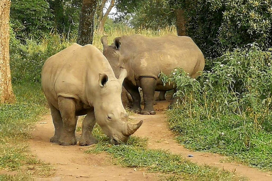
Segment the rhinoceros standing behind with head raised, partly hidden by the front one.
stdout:
<path fill-rule="evenodd" d="M 102 37 L 103 54 L 108 59 L 115 75 L 120 67 L 126 68 L 127 77 L 123 86 L 131 94 L 131 110 L 141 114 L 156 114 L 153 109 L 154 92 L 172 90 L 174 83 L 163 86 L 159 73 L 169 75 L 174 68 L 183 68 L 192 78 L 204 69 L 204 56 L 190 37 L 167 35 L 145 37 L 139 34 L 117 37 L 108 46 L 107 37 Z M 138 87 L 143 89 L 144 109 L 140 107 Z M 175 100 L 173 100 L 175 101 Z"/>

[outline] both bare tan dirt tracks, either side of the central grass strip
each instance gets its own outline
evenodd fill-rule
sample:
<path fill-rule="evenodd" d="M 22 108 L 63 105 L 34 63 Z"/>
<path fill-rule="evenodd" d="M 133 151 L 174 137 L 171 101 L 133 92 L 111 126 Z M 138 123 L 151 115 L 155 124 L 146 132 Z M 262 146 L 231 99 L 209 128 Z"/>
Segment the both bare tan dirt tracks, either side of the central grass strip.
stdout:
<path fill-rule="evenodd" d="M 156 115 L 133 115 L 130 116 L 135 122 L 143 119 L 143 125 L 135 132 L 135 135 L 148 137 L 149 148 L 165 149 L 175 154 L 181 154 L 188 160 L 197 164 L 208 164 L 221 167 L 227 170 L 236 170 L 239 175 L 248 177 L 252 181 L 271 181 L 272 173 L 261 172 L 235 163 L 220 163 L 223 156 L 219 154 L 190 151 L 179 145 L 172 132 L 167 128 L 167 122 L 163 110 L 169 104 L 167 101 L 160 101 L 155 106 Z M 40 124 L 40 123 L 46 124 Z M 56 168 L 55 177 L 36 178 L 44 181 L 64 181 L 64 180 L 95 180 L 95 181 L 153 181 L 159 180 L 157 174 L 147 173 L 144 170 L 134 171 L 133 168 L 124 168 L 110 162 L 107 154 L 85 154 L 88 147 L 59 146 L 49 142 L 49 138 L 54 134 L 54 126 L 50 115 L 44 116 L 33 131 L 33 138 L 29 141 L 31 152 L 37 155 L 38 159 L 46 163 L 51 163 Z M 193 157 L 188 157 L 192 154 Z"/>

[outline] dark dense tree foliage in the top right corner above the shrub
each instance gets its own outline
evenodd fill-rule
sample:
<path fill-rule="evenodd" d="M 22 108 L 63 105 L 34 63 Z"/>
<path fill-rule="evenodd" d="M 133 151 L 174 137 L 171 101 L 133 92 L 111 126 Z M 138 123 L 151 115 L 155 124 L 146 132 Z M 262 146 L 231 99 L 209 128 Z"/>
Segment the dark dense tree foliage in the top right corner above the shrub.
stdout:
<path fill-rule="evenodd" d="M 207 56 L 256 42 L 271 47 L 272 1 L 178 1 L 186 10 L 186 33 Z"/>

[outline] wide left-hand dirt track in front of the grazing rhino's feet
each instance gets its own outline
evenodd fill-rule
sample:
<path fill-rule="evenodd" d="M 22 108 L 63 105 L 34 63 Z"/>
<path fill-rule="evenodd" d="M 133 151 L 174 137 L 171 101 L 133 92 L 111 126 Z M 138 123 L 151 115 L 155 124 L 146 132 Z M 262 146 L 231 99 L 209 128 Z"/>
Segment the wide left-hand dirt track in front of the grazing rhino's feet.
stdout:
<path fill-rule="evenodd" d="M 42 123 L 42 124 L 41 124 Z M 86 154 L 88 146 L 60 146 L 50 143 L 54 135 L 54 125 L 50 115 L 46 115 L 37 123 L 32 132 L 33 138 L 29 147 L 37 159 L 50 163 L 56 174 L 51 178 L 35 178 L 37 181 L 155 181 L 159 177 L 144 170 L 134 171 L 110 162 L 107 154 Z"/>

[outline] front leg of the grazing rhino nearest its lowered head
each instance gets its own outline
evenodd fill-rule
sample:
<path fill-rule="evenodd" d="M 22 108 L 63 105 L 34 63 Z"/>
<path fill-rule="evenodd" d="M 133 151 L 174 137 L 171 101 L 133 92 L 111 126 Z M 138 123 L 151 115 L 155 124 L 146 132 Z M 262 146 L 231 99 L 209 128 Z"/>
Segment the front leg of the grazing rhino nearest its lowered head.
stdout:
<path fill-rule="evenodd" d="M 92 134 L 95 123 L 94 111 L 88 112 L 82 122 L 82 135 L 79 141 L 80 146 L 97 143 L 97 139 L 94 138 Z"/>

